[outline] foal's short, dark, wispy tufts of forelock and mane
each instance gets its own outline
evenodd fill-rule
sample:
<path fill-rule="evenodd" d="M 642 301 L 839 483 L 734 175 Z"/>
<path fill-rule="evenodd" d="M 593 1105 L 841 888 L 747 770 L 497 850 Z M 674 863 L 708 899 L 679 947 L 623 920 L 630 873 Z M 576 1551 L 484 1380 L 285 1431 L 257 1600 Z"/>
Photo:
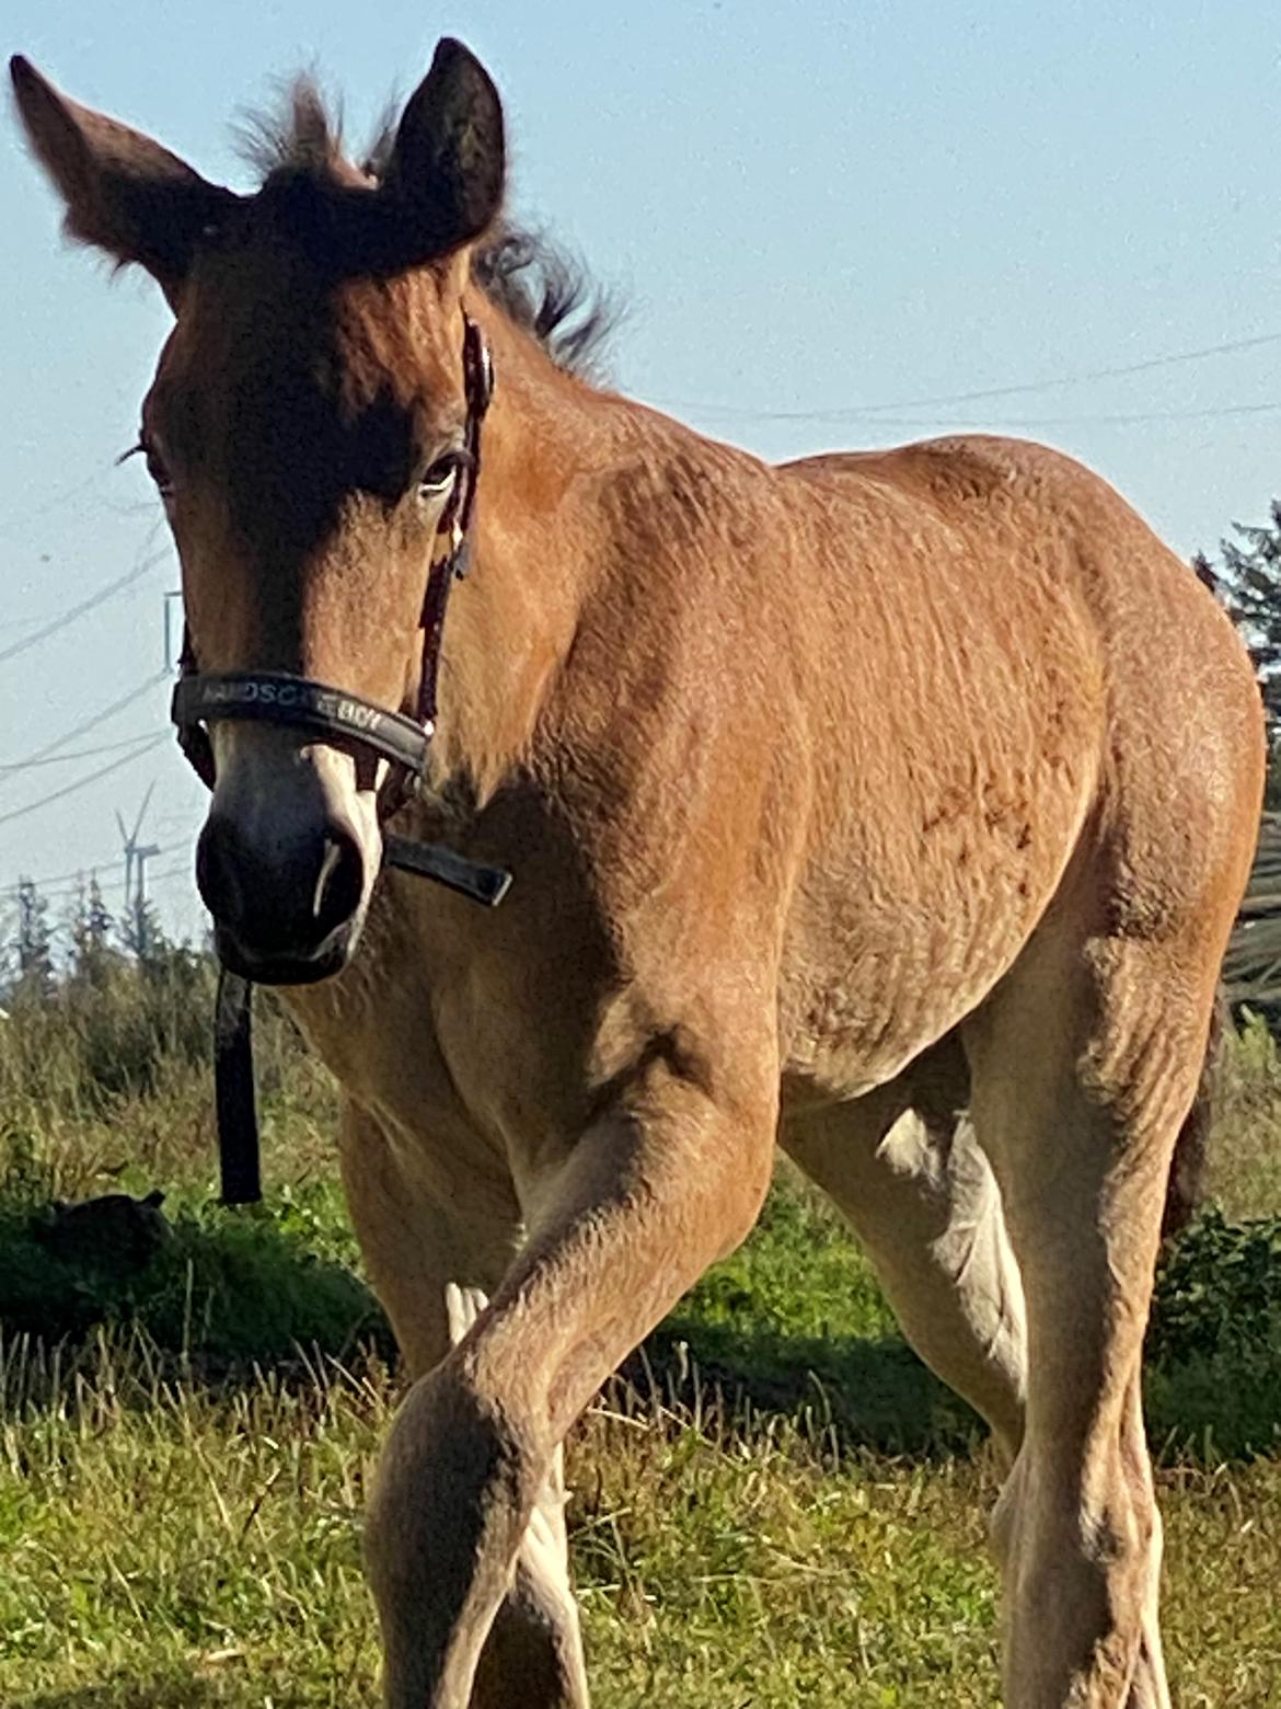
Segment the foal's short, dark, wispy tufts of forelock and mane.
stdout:
<path fill-rule="evenodd" d="M 263 179 L 284 173 L 328 178 L 345 162 L 342 111 L 326 103 L 313 77 L 290 82 L 273 109 L 243 115 L 236 135 L 241 154 Z M 366 178 L 383 176 L 395 137 L 396 115 L 389 108 L 360 154 Z M 605 345 L 622 316 L 618 299 L 547 232 L 504 215 L 471 251 L 471 277 L 559 367 L 584 378 L 600 374 Z"/>

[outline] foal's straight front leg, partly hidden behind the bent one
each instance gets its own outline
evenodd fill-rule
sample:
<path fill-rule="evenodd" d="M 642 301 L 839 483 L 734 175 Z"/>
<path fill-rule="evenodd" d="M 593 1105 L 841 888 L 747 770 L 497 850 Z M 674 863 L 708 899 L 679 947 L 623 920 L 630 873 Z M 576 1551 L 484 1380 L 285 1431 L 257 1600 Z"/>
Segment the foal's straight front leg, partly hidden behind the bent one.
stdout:
<path fill-rule="evenodd" d="M 511 1261 L 516 1207 L 499 1195 L 463 1215 L 415 1183 L 381 1126 L 348 1104 L 342 1119 L 347 1203 L 374 1290 L 415 1377 L 473 1326 Z M 586 1709 L 579 1612 L 569 1577 L 562 1449 L 535 1499 L 511 1589 L 477 1668 L 471 1709 L 507 1709 L 521 1680 L 528 1709 Z"/>

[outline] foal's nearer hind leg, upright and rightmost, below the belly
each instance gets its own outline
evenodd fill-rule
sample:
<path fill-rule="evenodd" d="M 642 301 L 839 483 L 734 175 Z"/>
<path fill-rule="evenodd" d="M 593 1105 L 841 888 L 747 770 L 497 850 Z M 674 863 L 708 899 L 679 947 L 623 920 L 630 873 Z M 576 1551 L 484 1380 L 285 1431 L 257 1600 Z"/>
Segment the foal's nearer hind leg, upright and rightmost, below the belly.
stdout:
<path fill-rule="evenodd" d="M 1170 1702 L 1139 1364 L 1213 978 L 1204 938 L 1090 938 L 1064 918 L 967 1024 L 1028 1318 L 1027 1427 L 994 1521 L 1011 1709 Z"/>

